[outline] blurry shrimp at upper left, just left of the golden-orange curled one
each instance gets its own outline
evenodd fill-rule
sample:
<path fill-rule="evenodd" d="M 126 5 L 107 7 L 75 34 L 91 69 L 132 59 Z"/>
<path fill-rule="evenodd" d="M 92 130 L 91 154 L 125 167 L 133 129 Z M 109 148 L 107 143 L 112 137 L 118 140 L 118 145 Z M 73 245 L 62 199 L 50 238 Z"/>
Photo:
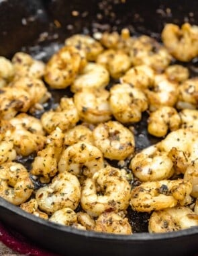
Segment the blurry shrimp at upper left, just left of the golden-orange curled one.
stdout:
<path fill-rule="evenodd" d="M 45 64 L 33 59 L 27 53 L 15 53 L 11 62 L 15 70 L 15 77 L 41 78 L 44 75 Z"/>

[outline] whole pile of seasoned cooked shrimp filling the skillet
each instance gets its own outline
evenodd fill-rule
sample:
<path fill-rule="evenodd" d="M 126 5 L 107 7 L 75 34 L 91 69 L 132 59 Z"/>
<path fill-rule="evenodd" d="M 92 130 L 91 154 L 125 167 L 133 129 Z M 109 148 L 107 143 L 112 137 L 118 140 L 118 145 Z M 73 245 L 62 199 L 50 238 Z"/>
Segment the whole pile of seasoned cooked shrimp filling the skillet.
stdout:
<path fill-rule="evenodd" d="M 133 234 L 130 211 L 150 233 L 198 226 L 198 76 L 185 65 L 198 27 L 166 24 L 161 38 L 123 28 L 70 36 L 46 63 L 0 57 L 0 196 L 81 230 Z M 138 150 L 145 113 L 158 143 Z"/>

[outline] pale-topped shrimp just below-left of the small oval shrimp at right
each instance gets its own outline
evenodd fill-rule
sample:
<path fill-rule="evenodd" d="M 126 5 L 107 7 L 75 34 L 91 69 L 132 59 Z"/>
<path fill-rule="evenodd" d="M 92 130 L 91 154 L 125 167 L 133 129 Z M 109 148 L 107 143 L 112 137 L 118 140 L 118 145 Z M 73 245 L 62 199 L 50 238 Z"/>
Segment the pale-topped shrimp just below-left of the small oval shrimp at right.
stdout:
<path fill-rule="evenodd" d="M 166 75 L 156 75 L 154 84 L 145 90 L 148 97 L 149 108 L 156 110 L 159 106 L 175 106 L 178 98 L 178 84 L 169 81 Z"/>

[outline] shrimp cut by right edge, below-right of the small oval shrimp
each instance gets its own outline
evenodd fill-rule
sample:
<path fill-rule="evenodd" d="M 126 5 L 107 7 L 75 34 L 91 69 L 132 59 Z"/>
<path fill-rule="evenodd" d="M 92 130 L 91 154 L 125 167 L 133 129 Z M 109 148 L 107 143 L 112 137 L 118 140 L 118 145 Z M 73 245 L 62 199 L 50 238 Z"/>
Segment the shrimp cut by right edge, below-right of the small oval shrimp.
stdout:
<path fill-rule="evenodd" d="M 198 105 L 198 77 L 185 80 L 179 88 L 179 98 L 177 108 L 195 109 Z"/>

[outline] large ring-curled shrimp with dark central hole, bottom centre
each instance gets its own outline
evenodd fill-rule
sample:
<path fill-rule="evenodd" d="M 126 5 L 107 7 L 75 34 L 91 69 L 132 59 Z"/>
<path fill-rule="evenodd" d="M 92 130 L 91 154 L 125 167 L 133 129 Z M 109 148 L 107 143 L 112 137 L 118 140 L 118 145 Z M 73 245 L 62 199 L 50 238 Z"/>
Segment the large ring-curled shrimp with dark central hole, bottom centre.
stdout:
<path fill-rule="evenodd" d="M 100 193 L 100 194 L 99 194 Z M 107 166 L 87 178 L 81 190 L 81 207 L 91 216 L 126 210 L 131 189 L 126 174 Z"/>

